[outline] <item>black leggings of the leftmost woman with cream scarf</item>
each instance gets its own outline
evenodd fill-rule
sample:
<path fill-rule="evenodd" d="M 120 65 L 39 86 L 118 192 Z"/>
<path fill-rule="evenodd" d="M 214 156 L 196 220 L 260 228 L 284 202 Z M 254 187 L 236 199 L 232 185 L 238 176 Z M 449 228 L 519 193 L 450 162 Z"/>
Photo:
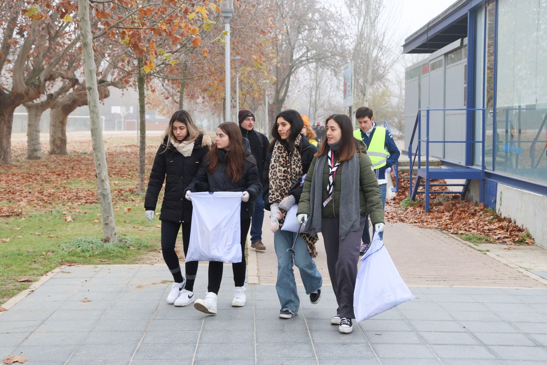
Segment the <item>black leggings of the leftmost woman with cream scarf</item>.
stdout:
<path fill-rule="evenodd" d="M 181 223 L 161 221 L 161 252 L 164 255 L 165 263 L 173 274 L 175 282 L 182 282 L 181 265 L 178 261 L 178 255 L 174 251 L 174 244 L 177 240 L 178 229 Z M 190 244 L 190 222 L 182 223 L 182 244 L 184 249 L 184 257 L 188 253 L 188 245 Z M 197 261 L 187 261 L 184 263 L 186 271 L 186 289 L 190 292 L 194 291 L 194 281 L 197 274 Z"/>

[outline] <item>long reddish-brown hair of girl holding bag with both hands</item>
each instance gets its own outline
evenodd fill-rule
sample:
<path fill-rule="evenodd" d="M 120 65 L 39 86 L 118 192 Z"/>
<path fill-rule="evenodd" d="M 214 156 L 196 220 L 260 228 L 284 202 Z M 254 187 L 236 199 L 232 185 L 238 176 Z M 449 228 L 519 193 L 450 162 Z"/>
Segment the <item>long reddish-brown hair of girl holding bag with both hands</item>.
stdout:
<path fill-rule="evenodd" d="M 233 183 L 239 181 L 243 177 L 245 170 L 245 149 L 243 148 L 243 137 L 239 126 L 233 121 L 220 124 L 218 128 L 228 136 L 230 140 L 230 150 L 227 151 L 223 163 L 226 164 L 226 173 Z M 207 154 L 207 173 L 213 175 L 213 172 L 218 168 L 218 147 L 213 144 Z M 248 160 L 248 159 L 247 159 Z"/>

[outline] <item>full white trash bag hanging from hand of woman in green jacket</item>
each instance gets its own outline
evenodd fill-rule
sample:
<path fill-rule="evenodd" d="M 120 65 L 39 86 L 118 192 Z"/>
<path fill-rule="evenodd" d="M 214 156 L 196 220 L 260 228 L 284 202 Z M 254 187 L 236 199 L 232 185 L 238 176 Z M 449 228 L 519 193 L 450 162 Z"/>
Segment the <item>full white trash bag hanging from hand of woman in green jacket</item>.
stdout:
<path fill-rule="evenodd" d="M 353 310 L 357 322 L 364 321 L 414 296 L 399 275 L 378 233 L 361 258 L 353 293 Z"/>

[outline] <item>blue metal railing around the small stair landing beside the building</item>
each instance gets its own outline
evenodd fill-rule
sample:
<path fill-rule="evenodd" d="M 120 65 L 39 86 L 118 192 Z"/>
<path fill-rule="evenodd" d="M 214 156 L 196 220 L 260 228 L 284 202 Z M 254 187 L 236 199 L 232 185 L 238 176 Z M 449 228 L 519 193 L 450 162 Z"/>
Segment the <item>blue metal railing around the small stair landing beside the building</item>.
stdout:
<path fill-rule="evenodd" d="M 485 136 L 486 136 L 486 112 L 485 108 L 458 108 L 458 109 L 447 109 L 447 108 L 427 108 L 427 109 L 418 109 L 418 113 L 416 115 L 416 122 L 414 123 L 414 129 L 412 130 L 412 136 L 410 137 L 410 143 L 409 143 L 409 167 L 410 167 L 410 190 L 409 193 L 412 194 L 412 169 L 414 167 L 414 164 L 416 162 L 416 157 L 418 157 L 418 169 L 421 169 L 422 162 L 421 162 L 421 155 L 422 155 L 422 142 L 426 142 L 426 182 L 429 181 L 429 143 L 465 143 L 465 146 L 467 146 L 470 143 L 481 143 L 481 170 L 484 174 L 485 170 Z M 482 112 L 482 136 L 481 141 L 429 141 L 429 113 L 431 111 L 465 111 L 465 112 L 473 112 L 473 111 L 481 111 Z M 421 139 L 422 135 L 422 112 L 426 112 L 426 140 Z M 414 159 L 412 159 L 412 142 L 414 141 L 414 136 L 416 134 L 416 129 L 418 129 L 418 146 L 416 147 L 416 152 L 414 153 Z M 466 148 L 467 150 L 467 148 Z"/>

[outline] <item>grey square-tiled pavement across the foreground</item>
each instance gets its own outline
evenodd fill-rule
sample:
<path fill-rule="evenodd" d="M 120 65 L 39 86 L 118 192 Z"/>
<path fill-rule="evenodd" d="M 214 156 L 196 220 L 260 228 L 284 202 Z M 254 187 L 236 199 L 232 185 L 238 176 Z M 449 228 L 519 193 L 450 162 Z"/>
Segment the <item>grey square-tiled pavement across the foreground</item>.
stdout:
<path fill-rule="evenodd" d="M 247 286 L 231 308 L 231 270 L 217 316 L 165 302 L 163 265 L 63 268 L 0 315 L 0 356 L 27 364 L 545 364 L 547 290 L 412 288 L 416 299 L 340 334 L 334 294 L 295 318 L 277 317 L 275 287 Z M 196 296 L 206 287 L 201 265 Z M 91 302 L 83 303 L 89 298 Z"/>

